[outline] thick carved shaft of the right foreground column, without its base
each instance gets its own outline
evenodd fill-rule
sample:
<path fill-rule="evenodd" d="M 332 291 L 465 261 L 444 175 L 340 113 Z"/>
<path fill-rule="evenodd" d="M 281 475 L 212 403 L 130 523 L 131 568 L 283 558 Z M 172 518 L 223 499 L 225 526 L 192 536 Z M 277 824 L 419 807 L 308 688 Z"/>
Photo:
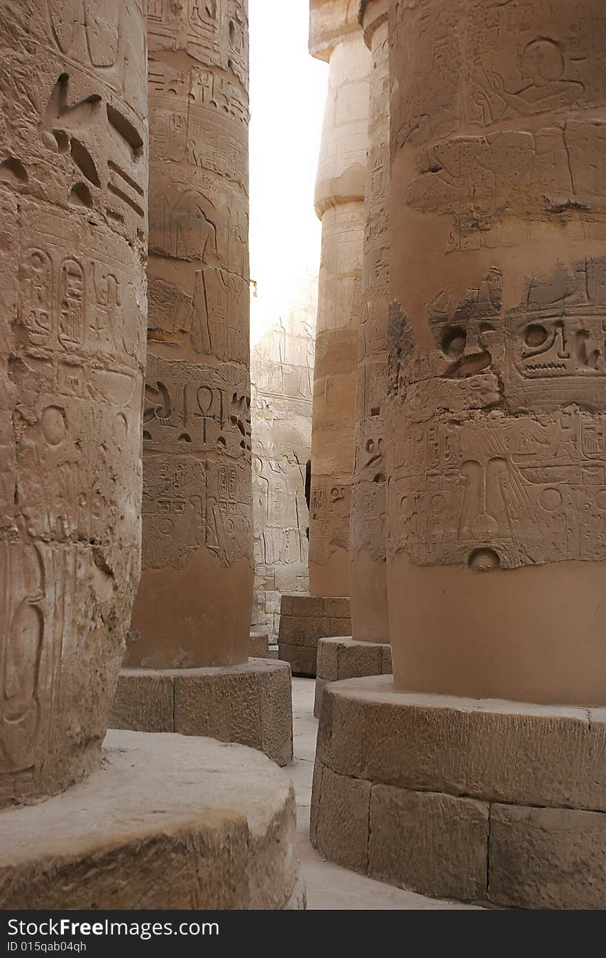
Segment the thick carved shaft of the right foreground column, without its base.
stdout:
<path fill-rule="evenodd" d="M 604 705 L 606 20 L 392 13 L 394 679 Z"/>

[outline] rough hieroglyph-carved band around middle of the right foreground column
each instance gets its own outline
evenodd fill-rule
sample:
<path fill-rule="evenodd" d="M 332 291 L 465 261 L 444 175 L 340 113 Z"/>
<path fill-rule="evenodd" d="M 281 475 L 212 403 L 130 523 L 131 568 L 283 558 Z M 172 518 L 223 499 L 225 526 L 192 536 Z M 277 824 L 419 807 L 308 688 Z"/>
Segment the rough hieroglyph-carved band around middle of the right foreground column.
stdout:
<path fill-rule="evenodd" d="M 508 309 L 493 267 L 449 304 L 442 293 L 428 310 L 434 354 L 398 349 L 392 326 L 409 422 L 393 452 L 394 547 L 420 564 L 606 559 L 606 258 L 529 277 Z M 449 378 L 457 392 L 438 391 Z M 492 412 L 467 421 L 474 405 Z"/>

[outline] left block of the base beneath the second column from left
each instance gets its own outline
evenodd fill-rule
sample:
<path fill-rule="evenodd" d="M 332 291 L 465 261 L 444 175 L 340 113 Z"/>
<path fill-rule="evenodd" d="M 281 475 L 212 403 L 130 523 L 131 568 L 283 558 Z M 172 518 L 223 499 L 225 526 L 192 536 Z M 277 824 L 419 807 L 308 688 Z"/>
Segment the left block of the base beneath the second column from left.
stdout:
<path fill-rule="evenodd" d="M 143 669 L 123 670 L 109 712 L 110 728 L 173 732 L 172 677 Z"/>

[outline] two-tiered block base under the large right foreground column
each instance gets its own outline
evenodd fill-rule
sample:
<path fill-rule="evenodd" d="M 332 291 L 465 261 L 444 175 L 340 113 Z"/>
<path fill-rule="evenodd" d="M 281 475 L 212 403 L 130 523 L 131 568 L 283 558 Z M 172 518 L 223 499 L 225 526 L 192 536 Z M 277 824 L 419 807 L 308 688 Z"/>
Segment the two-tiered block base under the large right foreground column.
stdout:
<path fill-rule="evenodd" d="M 326 686 L 312 844 L 423 895 L 606 907 L 606 709 Z"/>

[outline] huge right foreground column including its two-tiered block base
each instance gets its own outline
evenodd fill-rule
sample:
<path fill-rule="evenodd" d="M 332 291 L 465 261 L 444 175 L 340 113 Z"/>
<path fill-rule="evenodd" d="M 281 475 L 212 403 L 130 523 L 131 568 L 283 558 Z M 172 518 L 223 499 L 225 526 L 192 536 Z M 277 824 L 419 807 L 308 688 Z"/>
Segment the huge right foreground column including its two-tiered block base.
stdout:
<path fill-rule="evenodd" d="M 312 836 L 415 891 L 603 908 L 606 15 L 390 17 L 394 683 L 325 689 Z"/>

